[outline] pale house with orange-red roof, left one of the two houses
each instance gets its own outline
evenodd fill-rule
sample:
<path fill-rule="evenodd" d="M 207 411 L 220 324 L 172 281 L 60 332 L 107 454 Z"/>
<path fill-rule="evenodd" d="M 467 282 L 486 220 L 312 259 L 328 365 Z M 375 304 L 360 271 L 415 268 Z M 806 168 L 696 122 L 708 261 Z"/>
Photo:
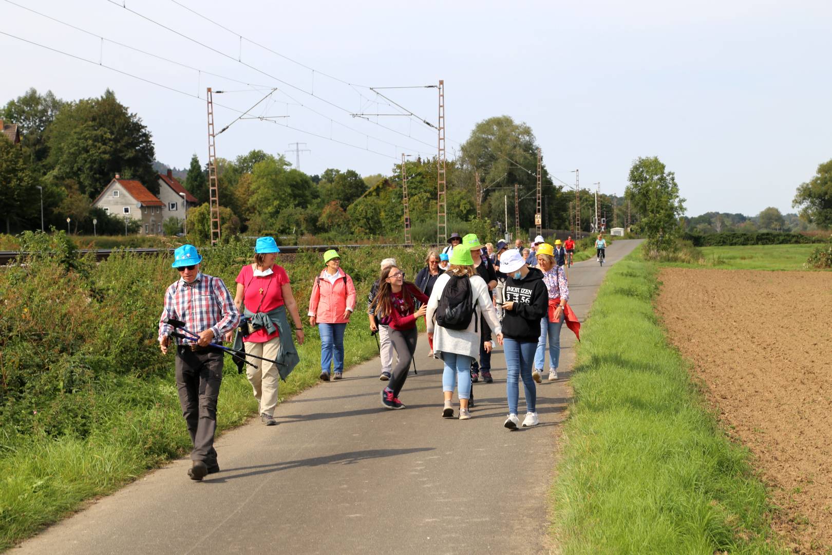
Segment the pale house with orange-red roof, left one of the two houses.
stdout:
<path fill-rule="evenodd" d="M 161 235 L 165 204 L 139 181 L 121 179 L 116 174 L 92 206 L 112 216 L 139 221 L 141 235 Z"/>

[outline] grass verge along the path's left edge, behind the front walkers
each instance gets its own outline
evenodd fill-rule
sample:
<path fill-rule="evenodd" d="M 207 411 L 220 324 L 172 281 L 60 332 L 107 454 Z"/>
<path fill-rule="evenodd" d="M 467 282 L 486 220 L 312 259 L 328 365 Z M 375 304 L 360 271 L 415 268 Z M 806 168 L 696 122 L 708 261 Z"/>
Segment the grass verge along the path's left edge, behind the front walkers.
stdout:
<path fill-rule="evenodd" d="M 359 310 L 344 336 L 348 369 L 378 354 L 362 315 Z M 307 329 L 299 353 L 300 364 L 280 382 L 280 402 L 319 381 L 317 333 Z M 10 445 L 0 436 L 0 551 L 77 510 L 85 499 L 112 493 L 148 469 L 190 453 L 172 367 L 171 358 L 165 378 L 121 377 L 98 390 L 92 403 L 109 416 L 87 438 L 38 434 Z M 245 373 L 238 375 L 226 356 L 217 429 L 243 424 L 256 410 Z"/>

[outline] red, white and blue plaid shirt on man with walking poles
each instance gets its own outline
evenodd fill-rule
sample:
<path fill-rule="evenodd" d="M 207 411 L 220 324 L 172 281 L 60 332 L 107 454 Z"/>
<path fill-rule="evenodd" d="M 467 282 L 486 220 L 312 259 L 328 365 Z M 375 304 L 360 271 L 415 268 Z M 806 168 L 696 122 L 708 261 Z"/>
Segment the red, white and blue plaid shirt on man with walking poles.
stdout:
<path fill-rule="evenodd" d="M 162 323 L 168 317 L 182 320 L 185 327 L 196 334 L 210 328 L 214 332 L 214 343 L 221 343 L 225 333 L 234 330 L 240 323 L 240 312 L 225 283 L 202 272 L 190 284 L 180 278 L 167 288 L 165 309 L 159 318 L 160 342 L 162 337 L 173 331 L 173 326 Z M 192 344 L 196 341 L 176 338 L 176 343 Z"/>

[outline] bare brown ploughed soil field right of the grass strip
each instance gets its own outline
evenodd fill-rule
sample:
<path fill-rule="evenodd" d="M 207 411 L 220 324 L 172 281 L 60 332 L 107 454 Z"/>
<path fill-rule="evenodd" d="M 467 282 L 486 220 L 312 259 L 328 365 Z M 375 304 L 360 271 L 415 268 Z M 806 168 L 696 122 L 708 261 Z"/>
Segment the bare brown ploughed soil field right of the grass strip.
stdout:
<path fill-rule="evenodd" d="M 661 270 L 656 309 L 795 553 L 832 550 L 832 274 Z"/>

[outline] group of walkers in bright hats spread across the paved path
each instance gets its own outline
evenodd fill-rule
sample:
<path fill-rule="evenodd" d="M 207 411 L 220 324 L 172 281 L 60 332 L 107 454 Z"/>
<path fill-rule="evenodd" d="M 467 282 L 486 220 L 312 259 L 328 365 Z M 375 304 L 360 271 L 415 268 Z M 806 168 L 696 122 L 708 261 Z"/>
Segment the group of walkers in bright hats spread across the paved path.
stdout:
<path fill-rule="evenodd" d="M 570 238 L 571 240 L 571 238 Z M 429 250 L 413 282 L 397 261 L 381 261 L 379 279 L 367 298 L 371 333 L 379 336 L 381 374 L 387 382 L 381 404 L 404 409 L 399 399 L 416 352 L 417 321 L 425 319 L 429 355 L 443 361 L 443 418 L 453 418 L 453 391 L 458 419 L 471 418 L 472 384 L 480 377 L 492 383 L 493 341 L 503 346 L 507 376 L 508 429 L 539 423 L 537 391 L 545 367 L 548 340 L 549 380 L 557 379 L 560 330 L 564 321 L 577 334 L 577 319 L 567 305 L 569 290 L 560 241 L 548 245 L 538 236 L 532 255 L 523 257 L 522 242 L 509 249 L 499 240 L 480 243 L 477 235 L 453 234 L 438 252 Z M 176 344 L 176 387 L 194 448 L 188 475 L 201 480 L 219 471 L 213 447 L 216 403 L 222 379 L 223 353 L 246 365 L 246 376 L 259 404 L 260 421 L 277 424 L 274 411 L 280 379 L 300 361 L 295 339 L 305 335 L 289 275 L 277 265 L 280 248 L 271 237 L 255 243 L 252 263 L 236 277 L 232 298 L 220 278 L 203 274 L 201 255 L 193 245 L 174 253 L 180 273 L 166 290 L 159 324 L 162 353 Z M 336 250 L 324 253 L 324 269 L 314 278 L 310 325 L 321 339 L 320 379 L 342 379 L 344 330 L 355 310 L 352 278 L 340 267 Z M 290 321 L 292 326 L 290 326 Z M 295 333 L 293 339 L 292 333 Z M 234 347 L 221 344 L 233 339 Z M 526 415 L 518 418 L 519 382 L 525 389 Z"/>

